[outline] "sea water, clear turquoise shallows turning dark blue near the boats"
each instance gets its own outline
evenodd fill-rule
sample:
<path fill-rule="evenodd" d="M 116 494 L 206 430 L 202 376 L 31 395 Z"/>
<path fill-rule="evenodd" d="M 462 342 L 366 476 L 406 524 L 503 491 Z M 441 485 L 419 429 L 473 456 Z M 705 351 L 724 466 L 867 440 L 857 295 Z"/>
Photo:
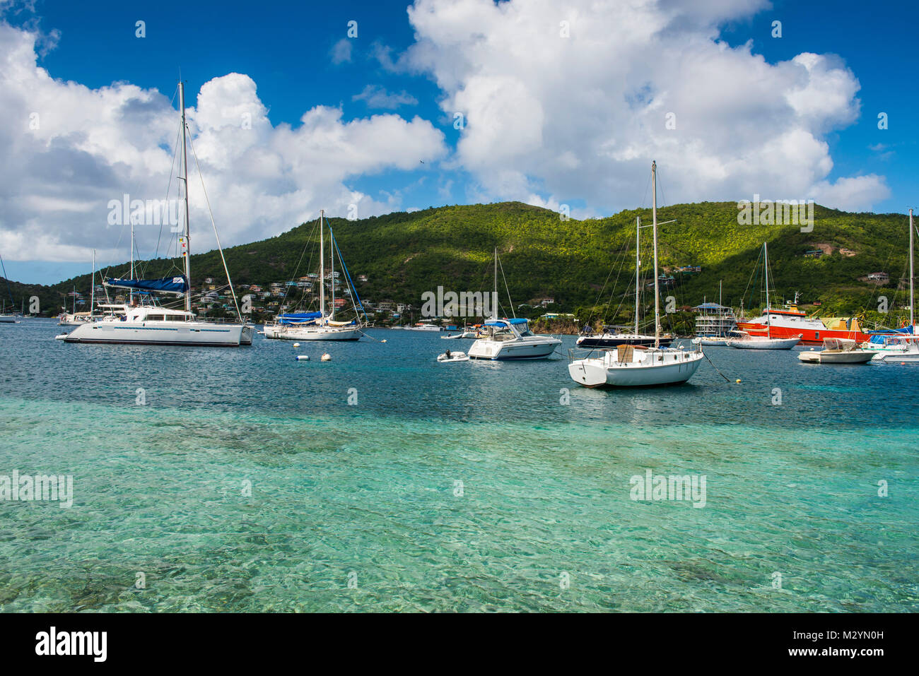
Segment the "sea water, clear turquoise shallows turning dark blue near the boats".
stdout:
<path fill-rule="evenodd" d="M 915 366 L 711 348 L 740 385 L 703 364 L 596 391 L 562 358 L 438 365 L 468 343 L 436 334 L 188 350 L 57 331 L 0 325 L 0 475 L 74 476 L 71 509 L 0 501 L 0 610 L 919 607 Z M 705 507 L 630 500 L 646 469 L 705 475 Z"/>

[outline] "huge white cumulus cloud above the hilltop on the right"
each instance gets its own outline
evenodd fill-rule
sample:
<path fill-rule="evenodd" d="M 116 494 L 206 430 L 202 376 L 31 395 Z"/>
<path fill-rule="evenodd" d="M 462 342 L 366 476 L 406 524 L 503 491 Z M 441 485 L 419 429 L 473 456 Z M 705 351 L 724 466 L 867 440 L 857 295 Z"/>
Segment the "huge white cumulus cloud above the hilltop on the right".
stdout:
<path fill-rule="evenodd" d="M 456 159 L 477 197 L 631 208 L 655 159 L 669 203 L 820 194 L 869 208 L 889 194 L 882 176 L 827 183 L 825 136 L 857 119 L 855 75 L 833 55 L 770 64 L 719 39 L 766 6 L 416 0 L 416 41 L 395 63 L 433 77 L 447 116 L 465 116 Z"/>

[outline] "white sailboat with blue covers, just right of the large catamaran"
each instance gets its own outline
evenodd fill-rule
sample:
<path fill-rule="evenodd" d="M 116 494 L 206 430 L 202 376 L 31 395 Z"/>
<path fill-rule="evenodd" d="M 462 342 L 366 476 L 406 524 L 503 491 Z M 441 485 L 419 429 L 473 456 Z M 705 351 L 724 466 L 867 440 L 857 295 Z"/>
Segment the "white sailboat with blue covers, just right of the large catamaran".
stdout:
<path fill-rule="evenodd" d="M 332 306 L 325 312 L 325 240 L 323 217 L 319 212 L 319 311 L 285 313 L 265 325 L 265 337 L 288 341 L 357 341 L 361 331 L 355 321 L 335 321 L 335 235 L 329 226 L 331 249 Z"/>

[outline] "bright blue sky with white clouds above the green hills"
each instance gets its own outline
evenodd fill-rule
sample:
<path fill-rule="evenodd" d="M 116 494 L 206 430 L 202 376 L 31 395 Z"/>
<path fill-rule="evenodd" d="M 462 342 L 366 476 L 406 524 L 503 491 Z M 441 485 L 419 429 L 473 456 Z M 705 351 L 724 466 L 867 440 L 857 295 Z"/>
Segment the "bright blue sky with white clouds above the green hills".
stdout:
<path fill-rule="evenodd" d="M 34 47 L 38 52 L 37 66 L 47 71 L 60 92 L 49 92 L 46 98 L 51 104 L 45 106 L 53 105 L 54 96 L 66 100 L 63 105 L 81 105 L 83 99 L 77 97 L 74 103 L 63 96 L 64 83 L 72 82 L 82 85 L 79 96 L 87 101 L 87 109 L 98 110 L 98 90 L 113 83 L 128 83 L 145 92 L 162 94 L 148 103 L 159 107 L 165 112 L 164 119 L 168 119 L 166 107 L 181 69 L 187 82 L 189 107 L 198 103 L 197 96 L 206 83 L 222 83 L 221 96 L 213 97 L 220 98 L 225 108 L 227 96 L 244 96 L 248 91 L 245 84 L 251 81 L 245 105 L 254 100 L 265 108 L 261 138 L 266 147 L 273 142 L 283 144 L 277 141 L 283 136 L 278 130 L 285 125 L 301 130 L 306 137 L 301 117 L 316 107 L 322 107 L 326 117 L 329 110 L 340 111 L 337 120 L 323 122 L 325 136 L 347 133 L 351 121 L 367 122 L 369 137 L 380 141 L 380 148 L 367 152 L 376 154 L 352 163 L 343 160 L 343 166 L 332 175 L 313 182 L 322 189 L 312 185 L 309 171 L 304 174 L 298 168 L 294 151 L 278 150 L 277 164 L 283 169 L 278 170 L 276 183 L 290 186 L 284 204 L 278 205 L 270 219 L 252 216 L 245 223 L 226 224 L 224 243 L 251 241 L 288 230 L 320 207 L 344 216 L 349 200 L 360 205 L 360 216 L 499 199 L 522 199 L 549 208 L 567 204 L 575 216 L 602 216 L 642 206 L 641 188 L 647 178 L 643 167 L 651 159 L 661 164 L 665 196 L 673 196 L 670 201 L 736 200 L 751 198 L 754 190 L 762 190 L 764 197 L 776 198 L 804 197 L 805 193 L 810 197 L 812 193 L 818 202 L 839 208 L 904 212 L 916 204 L 913 111 L 919 102 L 913 86 L 917 63 L 910 45 L 919 12 L 912 4 L 890 7 L 848 1 L 779 0 L 766 6 L 759 0 L 737 0 L 717 4 L 735 6 L 730 11 L 694 9 L 686 16 L 671 19 L 662 17 L 670 17 L 672 3 L 661 0 L 650 6 L 646 15 L 623 18 L 622 22 L 634 27 L 630 28 L 630 36 L 640 34 L 643 27 L 655 21 L 661 22 L 664 29 L 647 45 L 636 40 L 634 49 L 621 51 L 605 51 L 604 45 L 597 46 L 596 39 L 593 43 L 584 39 L 595 21 L 606 21 L 615 30 L 620 11 L 615 5 L 605 16 L 590 17 L 584 15 L 584 7 L 577 8 L 579 3 L 569 8 L 564 3 L 521 6 L 511 2 L 494 9 L 482 0 L 462 0 L 460 5 L 466 9 L 459 14 L 451 14 L 453 9 L 446 0 L 419 4 L 425 10 L 419 14 L 424 16 L 415 18 L 414 24 L 404 0 L 259 5 L 38 0 L 34 11 L 21 2 L 10 4 L 7 0 L 0 2 L 0 7 L 6 6 L 4 18 L 10 27 L 39 36 Z M 543 16 L 534 17 L 539 12 Z M 553 35 L 560 17 L 572 19 L 573 39 L 569 42 L 580 56 L 566 51 L 559 52 L 558 58 L 540 53 L 543 45 L 547 50 L 560 49 L 558 36 Z M 145 22 L 143 39 L 135 36 L 138 20 Z M 352 20 L 357 21 L 356 39 L 346 36 Z M 771 37 L 774 20 L 782 22 L 780 39 Z M 537 27 L 538 39 L 533 37 L 532 26 Z M 617 38 L 611 34 L 609 39 Z M 335 58 L 336 45 L 342 41 L 350 52 L 345 61 Z M 737 51 L 736 56 L 720 62 L 718 54 L 710 49 L 718 41 L 729 51 Z M 569 42 L 561 49 L 568 50 Z M 701 44 L 698 50 L 693 46 L 697 43 Z M 749 48 L 744 48 L 748 43 Z M 596 50 L 596 56 L 591 49 Z M 743 53 L 744 49 L 749 53 Z M 802 80 L 804 69 L 800 63 L 794 67 L 783 64 L 807 52 L 819 55 L 820 62 L 812 70 L 809 65 L 811 74 Z M 539 67 L 529 67 L 528 54 Z M 573 61 L 562 61 L 569 58 Z M 704 64 L 699 66 L 696 86 L 671 79 L 668 73 L 695 58 Z M 760 59 L 769 66 L 765 71 L 757 65 Z M 652 67 L 642 70 L 643 62 L 648 61 Z M 551 73 L 557 62 L 572 69 L 570 76 Z M 712 83 L 712 73 L 720 73 L 720 69 L 735 73 L 725 76 L 722 89 Z M 589 73 L 593 70 L 596 73 Z M 743 77 L 747 72 L 748 79 Z M 244 78 L 221 80 L 230 73 L 240 73 Z M 692 80 L 692 71 L 687 73 Z M 805 82 L 807 77 L 810 82 Z M 774 80 L 777 88 L 770 89 L 764 78 L 766 82 Z M 631 84 L 620 84 L 625 80 Z M 570 91 L 565 88 L 569 81 L 573 87 Z M 836 83 L 840 91 L 848 88 L 838 101 L 834 101 Z M 743 103 L 747 85 L 749 101 Z M 619 86 L 629 96 L 622 96 Z M 789 86 L 808 87 L 796 99 L 793 113 L 789 113 L 787 105 L 775 107 L 775 102 L 788 94 Z M 379 105 L 380 101 L 375 105 L 367 100 L 368 96 L 356 100 L 368 87 L 371 94 L 382 92 L 407 103 L 385 107 Z M 591 93 L 592 89 L 596 94 Z M 119 91 L 121 103 L 133 96 L 125 94 L 123 86 Z M 704 101 L 699 109 L 694 108 L 694 91 L 698 91 L 698 99 L 723 97 L 723 107 L 728 112 L 723 118 L 712 119 L 712 111 L 702 105 Z M 594 101 L 603 96 L 608 96 L 607 102 L 591 109 Z M 641 100 L 642 96 L 647 100 Z M 24 99 L 28 102 L 28 96 L 24 95 Z M 560 99 L 570 100 L 570 108 L 560 107 Z M 633 103 L 641 100 L 646 106 L 638 113 L 630 112 L 625 103 L 620 103 L 627 99 Z M 24 105 L 28 110 L 28 103 Z M 452 111 L 459 107 L 468 116 L 468 129 L 454 129 Z M 535 112 L 508 121 L 520 107 Z M 680 120 L 677 129 L 681 136 L 667 136 L 652 129 L 647 132 L 648 138 L 643 138 L 651 121 L 663 119 L 670 107 L 674 107 L 676 119 Z M 770 112 L 773 107 L 775 113 Z M 133 108 L 125 104 L 119 119 L 129 115 L 130 109 Z M 731 113 L 731 109 L 741 112 Z M 766 124 L 755 122 L 759 111 L 763 111 Z M 881 111 L 889 115 L 887 130 L 878 129 Z M 394 134 L 391 146 L 380 139 L 390 131 L 370 124 L 373 116 L 396 116 L 405 121 L 401 130 L 385 128 Z M 687 118 L 688 124 L 682 121 Z M 388 119 L 395 121 L 393 117 Z M 136 120 L 126 124 L 136 124 Z M 52 145 L 84 136 L 92 138 L 94 134 L 110 133 L 112 138 L 121 134 L 120 146 L 131 142 L 130 133 L 123 129 L 91 130 L 89 125 L 74 122 L 66 132 L 47 132 L 50 136 L 40 139 L 44 146 L 23 152 L 40 154 Z M 220 136 L 221 126 L 217 123 L 211 125 L 214 133 L 209 136 L 204 131 L 206 125 L 202 115 L 199 144 L 208 154 L 209 139 L 222 138 L 226 145 L 227 137 Z M 703 125 L 708 126 L 703 129 Z M 797 130 L 799 135 L 786 135 L 787 130 Z M 399 136 L 402 133 L 404 136 Z M 167 147 L 166 138 L 172 137 L 164 133 L 146 150 L 138 143 L 134 156 L 142 157 L 144 152 L 149 156 L 151 148 Z M 729 151 L 709 150 L 735 140 L 738 148 L 749 149 L 742 163 Z M 317 147 L 315 138 L 301 141 L 304 147 Z M 761 141 L 766 144 L 760 145 Z M 597 148 L 607 148 L 607 144 L 609 150 L 591 156 Z M 822 144 L 826 144 L 825 151 Z M 336 163 L 337 156 L 359 154 L 367 144 L 351 141 L 340 152 L 334 145 L 321 145 L 326 149 L 325 155 L 311 154 L 307 158 L 317 174 L 326 171 L 329 161 Z M 85 144 L 77 142 L 76 146 L 85 151 Z M 137 177 L 143 175 L 143 170 L 131 164 L 132 160 L 120 157 L 120 146 L 99 151 L 92 166 L 100 175 L 110 173 L 123 178 L 112 180 L 108 190 L 111 195 L 119 196 L 122 189 L 136 194 L 142 191 Z M 216 186 L 222 188 L 223 195 L 213 196 L 214 201 L 222 202 L 221 197 L 239 194 L 244 186 L 254 185 L 252 179 L 234 183 L 233 177 L 241 167 L 251 165 L 254 153 L 258 154 L 257 146 L 239 148 L 235 160 L 225 166 L 217 162 L 206 166 L 205 175 L 216 176 Z M 798 146 L 804 149 L 800 153 Z M 390 162 L 391 155 L 403 148 L 416 152 L 417 162 L 405 157 Z M 757 174 L 757 168 L 751 165 L 759 160 L 750 158 L 761 155 L 763 148 L 781 148 L 776 154 L 784 152 L 788 156 L 765 163 L 769 166 Z M 217 150 L 210 152 L 214 153 L 219 154 Z M 651 153 L 656 156 L 649 156 Z M 831 164 L 832 169 L 828 169 Z M 784 165 L 789 167 L 788 175 L 783 175 Z M 704 169 L 699 171 L 698 167 Z M 69 174 L 81 171 L 74 168 Z M 163 171 L 168 171 L 168 161 Z M 146 173 L 150 173 L 149 169 Z M 48 182 L 52 180 L 66 178 Z M 257 180 L 265 197 L 278 197 L 271 187 L 270 175 L 260 174 Z M 303 185 L 304 181 L 310 185 Z M 151 186 L 163 183 L 159 176 L 151 180 Z M 67 199 L 73 195 L 76 200 L 78 186 L 72 191 L 67 187 L 50 186 L 49 195 L 66 195 Z M 101 193 L 100 203 L 106 201 L 108 193 Z M 256 190 L 249 201 L 260 199 Z M 41 204 L 42 196 L 36 195 L 34 202 Z M 85 226 L 75 228 L 67 209 L 79 214 L 77 220 L 85 218 Z M 6 231 L 7 236 L 0 239 L 0 254 L 14 279 L 47 283 L 84 272 L 90 248 L 104 250 L 103 260 L 127 258 L 123 243 L 119 259 L 119 253 L 113 251 L 115 242 L 103 241 L 118 233 L 100 229 L 104 226 L 104 212 L 100 218 L 95 207 L 71 205 L 33 214 L 28 222 L 41 227 L 51 223 L 56 230 L 51 232 L 49 227 L 42 234 L 51 238 L 47 244 L 31 248 L 23 243 L 28 242 L 24 233 L 39 226 L 33 225 L 30 231 L 25 217 L 17 218 L 8 205 L 4 211 L 6 215 L 0 214 L 0 232 Z M 222 220 L 231 221 L 234 216 L 239 220 L 244 215 L 238 205 L 230 205 Z M 98 221 L 103 222 L 96 225 Z M 222 232 L 225 225 L 220 224 Z M 152 240 L 144 236 L 147 240 L 139 240 L 141 254 L 153 254 Z"/>

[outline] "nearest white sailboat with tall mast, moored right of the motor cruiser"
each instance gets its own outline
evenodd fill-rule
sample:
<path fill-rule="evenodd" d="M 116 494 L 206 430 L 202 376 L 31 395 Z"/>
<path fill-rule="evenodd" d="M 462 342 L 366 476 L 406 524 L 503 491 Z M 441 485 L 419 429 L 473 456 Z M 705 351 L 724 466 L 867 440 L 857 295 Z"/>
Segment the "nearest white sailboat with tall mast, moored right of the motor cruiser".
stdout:
<path fill-rule="evenodd" d="M 654 345 L 618 345 L 600 356 L 574 359 L 568 365 L 573 381 L 588 388 L 642 387 L 685 383 L 696 373 L 705 355 L 701 349 L 662 347 L 661 296 L 657 272 L 657 163 L 651 163 L 652 233 L 654 242 Z"/>

